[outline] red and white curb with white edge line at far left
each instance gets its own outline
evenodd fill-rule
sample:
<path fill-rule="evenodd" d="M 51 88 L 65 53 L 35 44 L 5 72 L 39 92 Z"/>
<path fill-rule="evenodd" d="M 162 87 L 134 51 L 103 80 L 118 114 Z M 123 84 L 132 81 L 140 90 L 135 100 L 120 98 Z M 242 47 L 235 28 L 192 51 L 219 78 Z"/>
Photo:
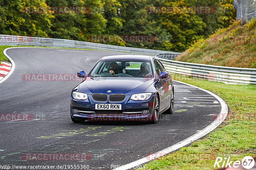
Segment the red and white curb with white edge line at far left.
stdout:
<path fill-rule="evenodd" d="M 15 63 L 14 61 L 11 59 L 11 57 L 9 57 L 7 54 L 6 54 L 6 51 L 8 49 L 11 49 L 11 48 L 15 48 L 15 47 L 10 47 L 10 48 L 6 48 L 4 49 L 3 53 L 5 55 L 5 57 L 8 58 L 8 60 L 12 63 L 7 63 L 7 62 L 1 62 L 0 64 L 0 83 L 4 82 L 11 74 L 12 72 L 14 71 L 14 68 L 15 68 Z"/>

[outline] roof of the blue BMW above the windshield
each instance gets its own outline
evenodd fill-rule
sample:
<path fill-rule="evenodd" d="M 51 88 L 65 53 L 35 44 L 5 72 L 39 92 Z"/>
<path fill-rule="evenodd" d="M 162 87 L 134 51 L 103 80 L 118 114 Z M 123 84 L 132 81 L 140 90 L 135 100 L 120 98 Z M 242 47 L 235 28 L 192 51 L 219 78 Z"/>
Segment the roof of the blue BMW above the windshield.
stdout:
<path fill-rule="evenodd" d="M 148 55 L 110 55 L 110 56 L 105 56 L 101 60 L 122 60 L 122 59 L 128 59 L 128 60 L 150 60 L 150 58 L 153 56 L 148 56 Z"/>

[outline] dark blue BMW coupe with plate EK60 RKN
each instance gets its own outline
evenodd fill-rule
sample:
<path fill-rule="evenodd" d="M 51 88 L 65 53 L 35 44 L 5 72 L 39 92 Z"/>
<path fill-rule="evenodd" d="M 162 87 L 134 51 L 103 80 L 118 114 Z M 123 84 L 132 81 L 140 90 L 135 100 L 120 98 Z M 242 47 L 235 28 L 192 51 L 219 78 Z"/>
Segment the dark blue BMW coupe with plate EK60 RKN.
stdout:
<path fill-rule="evenodd" d="M 113 55 L 101 58 L 71 93 L 74 123 L 85 120 L 138 120 L 156 124 L 159 115 L 172 114 L 171 76 L 153 56 Z"/>

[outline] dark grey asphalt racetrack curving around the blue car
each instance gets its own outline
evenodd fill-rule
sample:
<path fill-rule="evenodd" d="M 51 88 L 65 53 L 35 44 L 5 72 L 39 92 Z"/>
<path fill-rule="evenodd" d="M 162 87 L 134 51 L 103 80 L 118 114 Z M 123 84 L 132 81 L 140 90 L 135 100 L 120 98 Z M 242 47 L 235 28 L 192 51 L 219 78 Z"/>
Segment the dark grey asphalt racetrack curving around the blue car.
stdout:
<path fill-rule="evenodd" d="M 71 90 L 80 81 L 26 81 L 26 75 L 74 74 L 76 78 L 77 71 L 88 73 L 103 56 L 129 53 L 15 48 L 7 50 L 7 54 L 14 60 L 15 69 L 0 84 L 0 165 L 113 169 L 192 136 L 211 124 L 221 110 L 215 97 L 175 81 L 174 113 L 160 115 L 157 124 L 134 121 L 76 124 L 70 119 L 69 105 Z M 7 120 L 10 116 L 12 119 Z M 15 117 L 19 120 L 13 120 Z"/>

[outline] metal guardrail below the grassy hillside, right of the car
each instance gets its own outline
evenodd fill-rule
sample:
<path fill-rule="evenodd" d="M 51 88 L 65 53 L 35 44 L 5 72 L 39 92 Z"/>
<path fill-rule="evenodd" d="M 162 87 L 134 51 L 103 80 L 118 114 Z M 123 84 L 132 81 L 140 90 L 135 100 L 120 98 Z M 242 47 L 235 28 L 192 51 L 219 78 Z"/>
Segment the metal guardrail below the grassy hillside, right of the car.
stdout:
<path fill-rule="evenodd" d="M 254 68 L 223 67 L 158 59 L 169 73 L 189 75 L 226 84 L 256 85 L 256 69 Z"/>

